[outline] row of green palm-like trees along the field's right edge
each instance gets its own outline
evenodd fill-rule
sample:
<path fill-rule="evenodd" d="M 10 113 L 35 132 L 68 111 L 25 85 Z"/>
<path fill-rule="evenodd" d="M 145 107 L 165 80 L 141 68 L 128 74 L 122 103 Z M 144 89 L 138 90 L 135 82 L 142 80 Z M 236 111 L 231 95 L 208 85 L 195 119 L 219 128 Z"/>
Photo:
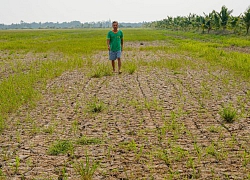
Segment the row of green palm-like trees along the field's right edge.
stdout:
<path fill-rule="evenodd" d="M 145 27 L 165 28 L 170 30 L 202 31 L 202 33 L 233 32 L 235 34 L 248 34 L 250 28 L 250 6 L 239 16 L 232 16 L 233 10 L 222 6 L 220 12 L 213 10 L 209 14 L 170 17 L 160 21 L 145 23 Z"/>

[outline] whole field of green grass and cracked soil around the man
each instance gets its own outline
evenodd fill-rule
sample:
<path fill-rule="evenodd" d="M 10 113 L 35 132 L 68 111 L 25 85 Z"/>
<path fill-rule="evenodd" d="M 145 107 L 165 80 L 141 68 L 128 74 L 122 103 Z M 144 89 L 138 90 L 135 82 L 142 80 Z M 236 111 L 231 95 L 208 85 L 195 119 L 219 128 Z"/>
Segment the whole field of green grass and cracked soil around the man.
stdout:
<path fill-rule="evenodd" d="M 250 179 L 250 37 L 0 31 L 0 179 Z"/>

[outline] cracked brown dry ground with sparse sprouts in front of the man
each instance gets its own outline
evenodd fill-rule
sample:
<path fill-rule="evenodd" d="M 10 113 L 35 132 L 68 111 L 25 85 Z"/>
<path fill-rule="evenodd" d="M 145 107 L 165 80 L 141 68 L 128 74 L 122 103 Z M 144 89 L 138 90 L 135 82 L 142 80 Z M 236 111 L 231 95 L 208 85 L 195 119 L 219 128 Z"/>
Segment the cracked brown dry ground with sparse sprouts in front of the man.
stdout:
<path fill-rule="evenodd" d="M 73 164 L 85 162 L 87 152 L 99 162 L 93 179 L 249 179 L 249 82 L 190 57 L 140 51 L 139 42 L 126 47 L 133 50 L 123 53 L 124 63 L 179 58 L 196 67 L 138 66 L 133 74 L 101 78 L 88 76 L 91 69 L 63 73 L 48 82 L 35 107 L 23 106 L 6 120 L 5 178 L 80 179 Z M 106 52 L 93 56 L 107 59 Z M 87 111 L 93 98 L 104 103 L 102 112 Z M 228 103 L 237 110 L 234 123 L 219 115 Z M 102 142 L 77 144 L 82 136 Z M 73 152 L 49 155 L 57 140 L 72 141 Z"/>

